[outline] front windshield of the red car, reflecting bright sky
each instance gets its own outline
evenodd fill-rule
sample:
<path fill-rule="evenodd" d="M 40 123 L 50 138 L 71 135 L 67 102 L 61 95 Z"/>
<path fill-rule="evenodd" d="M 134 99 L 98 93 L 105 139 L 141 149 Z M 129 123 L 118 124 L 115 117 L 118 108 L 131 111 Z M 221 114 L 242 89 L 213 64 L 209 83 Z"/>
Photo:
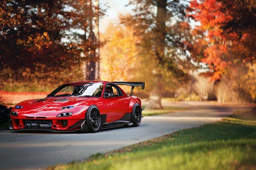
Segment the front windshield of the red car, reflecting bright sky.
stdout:
<path fill-rule="evenodd" d="M 61 85 L 49 96 L 71 96 L 71 97 L 100 97 L 102 94 L 102 83 L 74 83 Z"/>

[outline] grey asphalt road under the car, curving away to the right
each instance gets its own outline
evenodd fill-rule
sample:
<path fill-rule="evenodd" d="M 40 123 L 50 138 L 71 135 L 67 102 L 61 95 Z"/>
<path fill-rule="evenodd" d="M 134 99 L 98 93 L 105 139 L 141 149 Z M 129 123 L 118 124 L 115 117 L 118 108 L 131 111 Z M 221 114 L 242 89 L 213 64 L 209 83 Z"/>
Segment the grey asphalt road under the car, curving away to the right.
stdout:
<path fill-rule="evenodd" d="M 82 161 L 90 155 L 118 149 L 174 131 L 215 122 L 236 108 L 193 106 L 187 111 L 145 116 L 139 127 L 98 133 L 15 133 L 0 131 L 0 169 L 45 169 Z"/>

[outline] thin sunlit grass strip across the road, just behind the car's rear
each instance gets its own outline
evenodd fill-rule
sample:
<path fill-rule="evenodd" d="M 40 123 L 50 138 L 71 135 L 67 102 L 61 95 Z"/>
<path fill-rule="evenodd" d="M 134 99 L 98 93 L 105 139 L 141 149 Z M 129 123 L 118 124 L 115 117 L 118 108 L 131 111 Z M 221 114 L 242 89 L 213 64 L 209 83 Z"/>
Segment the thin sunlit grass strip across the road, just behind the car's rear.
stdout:
<path fill-rule="evenodd" d="M 145 107 L 143 107 L 145 108 Z M 143 116 L 153 116 L 157 114 L 164 114 L 164 113 L 174 113 L 177 111 L 183 111 L 186 110 L 187 108 L 182 108 L 182 107 L 164 107 L 163 109 L 147 109 L 145 108 L 144 111 L 142 111 Z"/>

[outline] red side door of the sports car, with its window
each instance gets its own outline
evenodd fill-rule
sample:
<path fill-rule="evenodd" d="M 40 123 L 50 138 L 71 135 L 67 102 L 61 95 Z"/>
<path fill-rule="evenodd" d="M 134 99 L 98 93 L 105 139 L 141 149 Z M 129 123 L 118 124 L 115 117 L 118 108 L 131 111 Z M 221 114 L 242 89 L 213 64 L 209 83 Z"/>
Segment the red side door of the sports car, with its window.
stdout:
<path fill-rule="evenodd" d="M 106 122 L 114 122 L 121 119 L 128 110 L 129 99 L 115 84 L 108 83 L 105 87 L 105 94 L 110 94 L 106 97 L 108 115 Z"/>

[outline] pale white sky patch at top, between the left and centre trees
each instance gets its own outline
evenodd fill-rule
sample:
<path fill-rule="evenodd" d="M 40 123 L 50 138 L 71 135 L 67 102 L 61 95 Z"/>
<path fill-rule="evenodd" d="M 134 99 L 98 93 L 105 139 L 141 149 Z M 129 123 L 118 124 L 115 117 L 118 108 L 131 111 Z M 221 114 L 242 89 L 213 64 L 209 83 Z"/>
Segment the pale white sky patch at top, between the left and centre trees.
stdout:
<path fill-rule="evenodd" d="M 119 14 L 128 14 L 132 12 L 131 6 L 125 6 L 129 0 L 99 0 L 99 3 L 106 4 L 109 8 L 104 17 L 99 20 L 99 31 L 104 33 L 110 22 L 118 20 Z"/>

